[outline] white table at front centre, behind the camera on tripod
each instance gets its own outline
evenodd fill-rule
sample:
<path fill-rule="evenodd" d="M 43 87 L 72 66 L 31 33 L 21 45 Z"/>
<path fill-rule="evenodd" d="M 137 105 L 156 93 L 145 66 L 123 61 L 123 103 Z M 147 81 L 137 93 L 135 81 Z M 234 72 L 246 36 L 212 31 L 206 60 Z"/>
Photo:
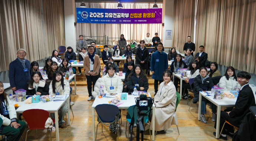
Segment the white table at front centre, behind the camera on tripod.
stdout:
<path fill-rule="evenodd" d="M 148 93 L 150 96 L 150 94 Z M 127 100 L 121 100 L 120 103 L 123 103 L 121 105 L 118 105 L 119 109 L 128 109 L 130 106 L 135 105 L 135 96 L 134 95 L 128 95 L 127 94 Z M 92 138 L 93 141 L 95 141 L 95 116 L 94 116 L 94 110 L 95 107 L 99 104 L 109 104 L 108 101 L 112 100 L 113 98 L 98 98 L 96 97 L 93 104 L 92 104 Z M 155 105 L 152 106 L 152 133 L 155 132 Z M 155 134 L 152 134 L 152 141 L 155 140 Z"/>

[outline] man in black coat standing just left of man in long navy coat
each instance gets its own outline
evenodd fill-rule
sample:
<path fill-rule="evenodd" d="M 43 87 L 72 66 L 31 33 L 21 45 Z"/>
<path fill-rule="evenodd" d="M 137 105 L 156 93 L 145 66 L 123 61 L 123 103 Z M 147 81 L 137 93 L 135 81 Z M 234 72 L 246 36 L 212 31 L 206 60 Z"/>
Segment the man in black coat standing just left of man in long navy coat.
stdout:
<path fill-rule="evenodd" d="M 136 49 L 136 64 L 140 64 L 144 73 L 146 73 L 146 69 L 148 68 L 148 48 L 145 47 L 145 41 L 140 41 L 141 47 L 137 47 Z"/>

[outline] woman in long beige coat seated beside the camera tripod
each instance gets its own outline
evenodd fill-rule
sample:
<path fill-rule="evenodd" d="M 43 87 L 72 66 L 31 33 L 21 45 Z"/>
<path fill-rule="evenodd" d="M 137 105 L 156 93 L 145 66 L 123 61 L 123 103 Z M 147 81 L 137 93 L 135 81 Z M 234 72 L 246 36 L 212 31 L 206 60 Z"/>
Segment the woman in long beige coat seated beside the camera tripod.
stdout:
<path fill-rule="evenodd" d="M 165 70 L 163 73 L 164 82 L 159 86 L 157 94 L 154 97 L 155 104 L 155 131 L 158 134 L 165 134 L 165 130 L 171 125 L 177 125 L 178 119 L 175 112 L 176 108 L 176 88 L 173 84 L 173 73 Z M 150 127 L 152 130 L 152 126 Z"/>

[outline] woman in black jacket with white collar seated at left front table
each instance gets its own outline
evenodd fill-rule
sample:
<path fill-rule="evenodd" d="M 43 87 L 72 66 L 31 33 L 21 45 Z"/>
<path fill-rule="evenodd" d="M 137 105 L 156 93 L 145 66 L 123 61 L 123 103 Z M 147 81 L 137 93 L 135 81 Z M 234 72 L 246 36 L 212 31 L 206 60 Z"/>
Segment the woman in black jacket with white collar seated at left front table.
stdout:
<path fill-rule="evenodd" d="M 27 85 L 26 95 L 49 95 L 49 86 L 43 80 L 39 71 L 33 71 L 31 80 Z"/>

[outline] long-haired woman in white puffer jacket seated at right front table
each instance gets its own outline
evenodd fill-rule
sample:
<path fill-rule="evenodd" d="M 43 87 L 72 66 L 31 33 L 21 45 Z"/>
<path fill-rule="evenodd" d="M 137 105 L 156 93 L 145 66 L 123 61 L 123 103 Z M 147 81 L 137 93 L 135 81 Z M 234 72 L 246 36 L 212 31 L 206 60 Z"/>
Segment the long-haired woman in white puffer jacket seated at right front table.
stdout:
<path fill-rule="evenodd" d="M 235 87 L 241 87 L 237 83 L 236 72 L 232 66 L 227 67 L 226 73 L 220 78 L 219 87 L 224 88 L 224 91 L 234 90 Z"/>

